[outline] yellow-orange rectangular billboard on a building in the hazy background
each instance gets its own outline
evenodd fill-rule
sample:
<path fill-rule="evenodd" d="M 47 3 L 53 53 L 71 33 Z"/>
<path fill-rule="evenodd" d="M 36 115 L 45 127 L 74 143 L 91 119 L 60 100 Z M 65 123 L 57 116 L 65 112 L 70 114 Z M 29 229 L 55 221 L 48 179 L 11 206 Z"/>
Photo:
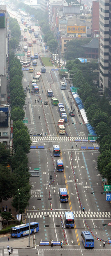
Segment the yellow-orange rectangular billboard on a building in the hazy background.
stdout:
<path fill-rule="evenodd" d="M 79 33 L 83 34 L 86 33 L 86 26 L 67 26 L 67 33 Z"/>

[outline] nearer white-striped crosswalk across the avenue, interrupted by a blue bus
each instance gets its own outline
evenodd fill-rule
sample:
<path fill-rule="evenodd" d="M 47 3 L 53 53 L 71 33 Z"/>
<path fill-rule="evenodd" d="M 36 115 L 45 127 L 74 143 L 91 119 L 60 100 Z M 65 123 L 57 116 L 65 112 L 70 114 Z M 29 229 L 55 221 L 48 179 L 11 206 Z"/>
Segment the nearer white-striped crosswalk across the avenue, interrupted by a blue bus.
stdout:
<path fill-rule="evenodd" d="M 66 210 L 67 211 L 67 210 Z M 75 218 L 111 218 L 111 212 L 86 212 L 83 213 L 82 211 L 74 211 L 74 217 Z M 65 211 L 35 211 L 35 212 L 29 212 L 27 211 L 26 215 L 28 218 L 43 218 L 43 217 L 55 217 L 60 218 L 65 217 Z"/>

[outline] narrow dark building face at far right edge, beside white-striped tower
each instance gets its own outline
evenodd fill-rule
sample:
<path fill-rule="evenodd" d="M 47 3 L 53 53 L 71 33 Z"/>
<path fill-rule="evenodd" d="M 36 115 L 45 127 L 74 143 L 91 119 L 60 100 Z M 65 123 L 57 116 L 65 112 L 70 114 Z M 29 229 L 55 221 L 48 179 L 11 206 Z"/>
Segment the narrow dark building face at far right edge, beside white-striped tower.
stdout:
<path fill-rule="evenodd" d="M 111 98 L 111 0 L 109 1 L 109 81 L 108 92 Z"/>

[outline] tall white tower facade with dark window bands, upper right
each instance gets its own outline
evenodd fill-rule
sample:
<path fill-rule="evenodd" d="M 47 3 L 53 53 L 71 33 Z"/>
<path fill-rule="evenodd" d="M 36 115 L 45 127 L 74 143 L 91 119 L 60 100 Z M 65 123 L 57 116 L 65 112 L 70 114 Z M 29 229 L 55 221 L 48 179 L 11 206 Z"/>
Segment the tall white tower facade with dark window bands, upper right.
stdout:
<path fill-rule="evenodd" d="M 99 0 L 99 86 L 103 91 L 109 76 L 109 1 Z"/>

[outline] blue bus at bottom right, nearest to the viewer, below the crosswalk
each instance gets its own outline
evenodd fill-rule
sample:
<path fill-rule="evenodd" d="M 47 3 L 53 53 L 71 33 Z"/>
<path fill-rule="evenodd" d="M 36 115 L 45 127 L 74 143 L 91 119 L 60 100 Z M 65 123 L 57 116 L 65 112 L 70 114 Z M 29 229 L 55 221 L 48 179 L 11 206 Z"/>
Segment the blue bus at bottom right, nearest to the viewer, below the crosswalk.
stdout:
<path fill-rule="evenodd" d="M 94 248 L 94 238 L 89 231 L 82 231 L 81 236 L 85 248 Z"/>

